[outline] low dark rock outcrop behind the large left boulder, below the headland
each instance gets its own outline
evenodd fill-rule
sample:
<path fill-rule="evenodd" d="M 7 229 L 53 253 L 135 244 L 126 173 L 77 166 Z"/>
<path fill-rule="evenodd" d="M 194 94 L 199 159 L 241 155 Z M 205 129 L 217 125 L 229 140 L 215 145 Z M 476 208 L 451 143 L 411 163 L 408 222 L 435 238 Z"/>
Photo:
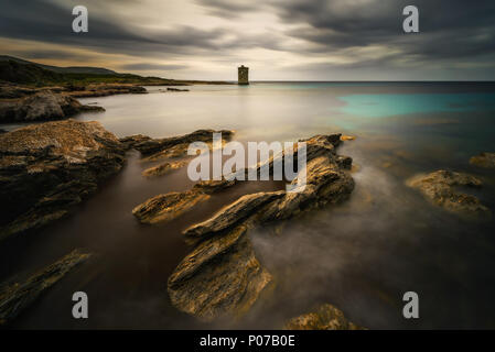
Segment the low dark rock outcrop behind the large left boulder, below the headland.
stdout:
<path fill-rule="evenodd" d="M 96 106 L 83 106 L 72 97 L 43 90 L 26 98 L 2 101 L 0 121 L 61 120 L 80 111 L 105 111 L 105 109 Z"/>

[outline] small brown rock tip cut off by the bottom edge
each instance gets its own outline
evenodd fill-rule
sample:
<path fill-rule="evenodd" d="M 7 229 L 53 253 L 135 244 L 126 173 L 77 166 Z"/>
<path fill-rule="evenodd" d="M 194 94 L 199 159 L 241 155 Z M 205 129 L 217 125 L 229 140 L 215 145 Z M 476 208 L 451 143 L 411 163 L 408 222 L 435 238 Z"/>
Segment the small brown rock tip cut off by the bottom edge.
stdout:
<path fill-rule="evenodd" d="M 290 319 L 287 330 L 363 330 L 348 321 L 342 310 L 325 304 L 315 312 Z"/>

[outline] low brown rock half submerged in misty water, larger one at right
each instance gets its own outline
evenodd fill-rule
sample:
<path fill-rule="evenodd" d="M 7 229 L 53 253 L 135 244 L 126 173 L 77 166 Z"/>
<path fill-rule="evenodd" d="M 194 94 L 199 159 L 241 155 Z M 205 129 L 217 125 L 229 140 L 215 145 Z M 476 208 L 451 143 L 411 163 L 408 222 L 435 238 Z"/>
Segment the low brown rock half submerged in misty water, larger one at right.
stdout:
<path fill-rule="evenodd" d="M 419 189 L 433 205 L 448 211 L 467 216 L 491 215 L 489 209 L 483 206 L 480 199 L 455 189 L 455 187 L 482 187 L 483 183 L 472 175 L 442 169 L 413 177 L 407 184 Z"/>

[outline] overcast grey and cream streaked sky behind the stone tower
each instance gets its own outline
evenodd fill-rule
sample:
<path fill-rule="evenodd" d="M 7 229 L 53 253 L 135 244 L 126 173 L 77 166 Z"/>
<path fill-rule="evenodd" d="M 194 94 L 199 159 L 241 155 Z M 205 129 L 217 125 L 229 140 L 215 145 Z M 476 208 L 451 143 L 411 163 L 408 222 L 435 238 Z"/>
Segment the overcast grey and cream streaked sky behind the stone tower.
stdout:
<path fill-rule="evenodd" d="M 72 31 L 86 6 L 89 32 Z M 405 34 L 402 9 L 420 11 Z M 0 0 L 1 54 L 168 78 L 495 79 L 495 0 Z"/>

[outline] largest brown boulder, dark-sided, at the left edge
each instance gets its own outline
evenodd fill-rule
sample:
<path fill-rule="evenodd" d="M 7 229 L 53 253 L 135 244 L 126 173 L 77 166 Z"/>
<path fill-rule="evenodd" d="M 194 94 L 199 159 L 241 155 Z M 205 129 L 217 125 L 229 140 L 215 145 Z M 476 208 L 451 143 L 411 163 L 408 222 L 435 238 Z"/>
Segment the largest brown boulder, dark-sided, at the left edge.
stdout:
<path fill-rule="evenodd" d="M 125 146 L 98 122 L 65 120 L 0 134 L 0 241 L 68 213 L 116 174 Z"/>

